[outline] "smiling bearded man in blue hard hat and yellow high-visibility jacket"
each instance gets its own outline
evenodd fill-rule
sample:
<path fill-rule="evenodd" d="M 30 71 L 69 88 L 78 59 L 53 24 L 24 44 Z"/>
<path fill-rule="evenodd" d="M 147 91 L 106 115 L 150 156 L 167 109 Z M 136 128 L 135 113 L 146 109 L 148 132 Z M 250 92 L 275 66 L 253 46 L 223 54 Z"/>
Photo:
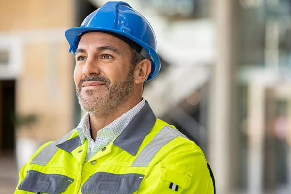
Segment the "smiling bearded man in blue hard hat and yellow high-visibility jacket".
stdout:
<path fill-rule="evenodd" d="M 88 113 L 32 155 L 15 193 L 214 194 L 201 149 L 157 119 L 142 98 L 144 82 L 160 69 L 146 18 L 127 3 L 108 2 L 65 36 Z"/>

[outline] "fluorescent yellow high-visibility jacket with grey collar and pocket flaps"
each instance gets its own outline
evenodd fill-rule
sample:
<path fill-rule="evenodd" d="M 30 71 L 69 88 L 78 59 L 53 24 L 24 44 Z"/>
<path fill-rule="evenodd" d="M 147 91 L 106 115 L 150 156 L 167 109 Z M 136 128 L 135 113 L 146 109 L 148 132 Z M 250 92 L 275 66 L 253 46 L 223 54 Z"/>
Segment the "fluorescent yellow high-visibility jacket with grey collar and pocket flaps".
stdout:
<path fill-rule="evenodd" d="M 85 162 L 87 143 L 74 129 L 42 145 L 20 170 L 15 194 L 215 194 L 201 149 L 157 119 L 147 102 Z"/>

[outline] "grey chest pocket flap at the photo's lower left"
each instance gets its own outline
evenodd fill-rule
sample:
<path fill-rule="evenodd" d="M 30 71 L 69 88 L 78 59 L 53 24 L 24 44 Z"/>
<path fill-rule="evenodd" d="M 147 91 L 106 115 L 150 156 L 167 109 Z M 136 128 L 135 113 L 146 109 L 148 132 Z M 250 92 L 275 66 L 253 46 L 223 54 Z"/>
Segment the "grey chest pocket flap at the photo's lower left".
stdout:
<path fill-rule="evenodd" d="M 58 194 L 65 191 L 73 181 L 74 179 L 65 175 L 44 174 L 35 170 L 29 170 L 18 189 L 29 192 Z"/>

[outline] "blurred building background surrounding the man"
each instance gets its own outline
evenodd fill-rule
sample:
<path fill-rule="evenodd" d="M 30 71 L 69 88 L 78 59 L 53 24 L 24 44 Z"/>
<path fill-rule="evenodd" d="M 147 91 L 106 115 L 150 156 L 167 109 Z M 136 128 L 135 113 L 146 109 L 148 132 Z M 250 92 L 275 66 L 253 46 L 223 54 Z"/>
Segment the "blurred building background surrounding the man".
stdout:
<path fill-rule="evenodd" d="M 217 194 L 291 193 L 291 0 L 124 0 L 156 32 L 144 97 L 195 141 Z M 79 123 L 64 32 L 106 0 L 0 0 L 0 194 Z"/>

